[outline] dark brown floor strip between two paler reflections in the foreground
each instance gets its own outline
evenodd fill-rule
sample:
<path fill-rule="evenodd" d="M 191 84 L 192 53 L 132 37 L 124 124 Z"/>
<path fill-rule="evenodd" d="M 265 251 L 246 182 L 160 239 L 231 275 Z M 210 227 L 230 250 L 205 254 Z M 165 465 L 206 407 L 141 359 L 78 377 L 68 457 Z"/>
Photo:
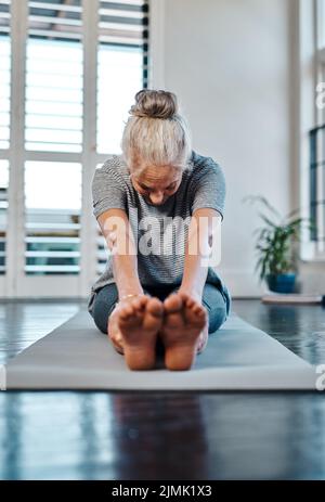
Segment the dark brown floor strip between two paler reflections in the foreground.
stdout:
<path fill-rule="evenodd" d="M 204 478 L 209 441 L 199 395 L 115 395 L 112 404 L 116 479 Z"/>

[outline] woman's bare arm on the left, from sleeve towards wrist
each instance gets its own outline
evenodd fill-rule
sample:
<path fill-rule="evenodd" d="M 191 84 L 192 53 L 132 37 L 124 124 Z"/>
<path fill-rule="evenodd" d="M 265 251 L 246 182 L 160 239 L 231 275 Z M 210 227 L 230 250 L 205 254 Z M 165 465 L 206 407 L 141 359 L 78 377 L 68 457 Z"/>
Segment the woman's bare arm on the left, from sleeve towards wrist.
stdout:
<path fill-rule="evenodd" d="M 102 233 L 112 252 L 113 274 L 119 298 L 143 293 L 138 275 L 136 247 L 129 219 L 122 209 L 108 209 L 99 216 Z"/>

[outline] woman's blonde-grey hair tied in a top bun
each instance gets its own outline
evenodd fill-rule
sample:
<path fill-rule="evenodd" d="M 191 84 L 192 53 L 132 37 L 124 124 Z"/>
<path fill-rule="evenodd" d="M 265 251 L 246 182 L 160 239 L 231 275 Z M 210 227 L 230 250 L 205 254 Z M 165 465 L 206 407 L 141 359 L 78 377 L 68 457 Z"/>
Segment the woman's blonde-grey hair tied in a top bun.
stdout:
<path fill-rule="evenodd" d="M 192 139 L 187 121 L 179 114 L 176 94 L 143 89 L 130 110 L 121 150 L 128 166 L 190 168 Z"/>

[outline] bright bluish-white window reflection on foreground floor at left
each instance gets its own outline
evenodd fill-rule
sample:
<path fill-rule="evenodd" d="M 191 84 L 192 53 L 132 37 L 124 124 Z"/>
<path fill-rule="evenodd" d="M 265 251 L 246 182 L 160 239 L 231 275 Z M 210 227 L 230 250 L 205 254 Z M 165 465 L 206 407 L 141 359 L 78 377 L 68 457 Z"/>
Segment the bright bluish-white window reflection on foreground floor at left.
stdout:
<path fill-rule="evenodd" d="M 2 392 L 0 479 L 112 478 L 109 401 L 104 394 Z"/>

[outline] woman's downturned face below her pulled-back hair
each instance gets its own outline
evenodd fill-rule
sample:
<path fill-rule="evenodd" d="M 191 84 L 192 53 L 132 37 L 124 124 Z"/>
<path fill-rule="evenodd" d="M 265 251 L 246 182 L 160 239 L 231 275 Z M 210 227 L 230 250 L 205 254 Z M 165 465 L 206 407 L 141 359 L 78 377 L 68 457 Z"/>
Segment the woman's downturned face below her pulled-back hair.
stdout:
<path fill-rule="evenodd" d="M 182 181 L 182 171 L 172 166 L 131 169 L 131 181 L 136 192 L 148 204 L 160 206 L 178 191 Z"/>

